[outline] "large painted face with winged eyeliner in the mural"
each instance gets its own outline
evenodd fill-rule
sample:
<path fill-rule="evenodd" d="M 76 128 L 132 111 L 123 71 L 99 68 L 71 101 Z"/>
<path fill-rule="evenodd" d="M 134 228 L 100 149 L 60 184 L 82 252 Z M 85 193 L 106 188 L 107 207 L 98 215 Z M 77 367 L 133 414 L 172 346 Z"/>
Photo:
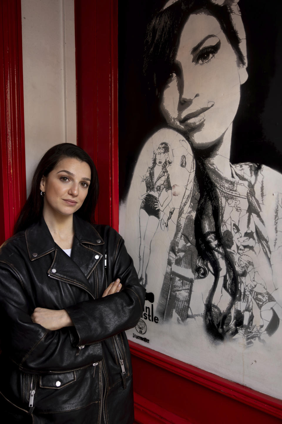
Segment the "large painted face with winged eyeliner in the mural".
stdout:
<path fill-rule="evenodd" d="M 233 122 L 240 100 L 236 59 L 216 18 L 190 15 L 161 110 L 169 126 L 184 132 L 194 148 L 213 145 Z"/>

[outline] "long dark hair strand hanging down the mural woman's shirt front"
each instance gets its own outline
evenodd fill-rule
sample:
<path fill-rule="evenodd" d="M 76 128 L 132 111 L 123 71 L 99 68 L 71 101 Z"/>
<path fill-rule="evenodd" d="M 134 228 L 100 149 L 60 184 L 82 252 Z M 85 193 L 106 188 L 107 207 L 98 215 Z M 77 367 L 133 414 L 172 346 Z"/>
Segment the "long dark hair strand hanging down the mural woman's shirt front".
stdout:
<path fill-rule="evenodd" d="M 205 327 L 214 339 L 223 340 L 225 335 L 228 334 L 231 337 L 237 332 L 237 329 L 233 329 L 232 332 L 230 331 L 229 321 L 231 310 L 235 304 L 239 289 L 238 273 L 235 269 L 233 258 L 227 250 L 230 245 L 228 245 L 224 234 L 222 234 L 220 225 L 222 222 L 222 211 L 219 208 L 220 203 L 216 187 L 208 175 L 203 159 L 200 157 L 196 158 L 195 178 L 200 193 L 194 227 L 196 248 L 200 257 L 211 264 L 214 274 L 214 283 L 205 301 Z M 211 226 L 211 231 L 209 232 L 203 229 L 207 219 Z M 216 248 L 211 248 L 208 243 L 207 237 L 210 234 L 213 234 L 217 242 Z M 220 311 L 219 308 L 213 304 L 213 297 L 219 282 L 220 273 L 220 265 L 216 257 L 216 252 L 222 255 L 225 260 L 226 275 L 224 279 L 224 288 L 230 294 L 230 301 L 224 312 Z"/>

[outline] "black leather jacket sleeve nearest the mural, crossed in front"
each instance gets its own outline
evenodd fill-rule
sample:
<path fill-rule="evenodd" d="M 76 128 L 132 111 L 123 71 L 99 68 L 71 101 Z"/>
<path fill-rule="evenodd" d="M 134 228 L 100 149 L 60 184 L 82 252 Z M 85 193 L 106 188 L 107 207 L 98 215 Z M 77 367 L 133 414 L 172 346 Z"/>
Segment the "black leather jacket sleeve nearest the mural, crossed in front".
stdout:
<path fill-rule="evenodd" d="M 123 290 L 66 308 L 81 345 L 91 344 L 132 328 L 142 315 L 145 289 L 138 281 L 124 240 L 118 233 L 115 234 L 118 235 L 118 241 L 113 245 L 115 249 L 108 251 L 111 281 L 120 278 Z M 111 258 L 114 260 L 112 264 Z"/>

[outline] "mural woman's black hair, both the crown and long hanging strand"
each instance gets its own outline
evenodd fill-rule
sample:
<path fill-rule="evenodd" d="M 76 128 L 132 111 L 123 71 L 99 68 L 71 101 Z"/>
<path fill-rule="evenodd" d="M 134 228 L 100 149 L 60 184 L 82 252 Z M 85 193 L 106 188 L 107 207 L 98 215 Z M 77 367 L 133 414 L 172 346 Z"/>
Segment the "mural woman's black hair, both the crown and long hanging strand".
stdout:
<path fill-rule="evenodd" d="M 225 0 L 218 3 L 221 4 L 216 4 L 209 0 L 177 0 L 170 2 L 167 7 L 164 7 L 155 15 L 149 24 L 145 40 L 143 70 L 151 92 L 154 91 L 159 100 L 162 97 L 162 88 L 173 70 L 182 29 L 189 16 L 193 13 L 203 11 L 203 13 L 215 17 L 235 52 L 238 68 L 246 66 L 244 27 L 240 12 L 236 14 L 233 8 L 233 6 L 237 7 L 237 2 Z M 239 33 L 240 30 L 241 33 Z M 183 135 L 185 136 L 185 134 Z M 198 266 L 198 275 L 201 273 L 205 274 L 205 271 L 201 272 L 199 268 L 205 266 L 203 264 L 207 264 L 207 262 L 211 265 L 214 274 L 214 284 L 208 298 L 205 300 L 205 326 L 214 340 L 223 340 L 227 335 L 233 337 L 236 332 L 235 329 L 230 334 L 228 322 L 238 294 L 239 278 L 233 259 L 227 251 L 229 246 L 226 242 L 226 237 L 223 237 L 221 231 L 222 216 L 219 210 L 216 188 L 205 167 L 205 158 L 211 155 L 212 151 L 208 149 L 201 151 L 193 149 L 193 152 L 196 160 L 195 184 L 197 184 L 200 195 L 194 226 L 196 247 L 200 258 L 200 261 L 198 261 L 200 264 Z M 205 225 L 207 221 L 210 223 L 209 231 L 207 231 Z M 213 296 L 219 282 L 220 273 L 218 254 L 225 259 L 227 273 L 224 287 L 230 294 L 230 302 L 223 312 L 218 308 L 216 309 L 215 305 L 213 305 Z"/>

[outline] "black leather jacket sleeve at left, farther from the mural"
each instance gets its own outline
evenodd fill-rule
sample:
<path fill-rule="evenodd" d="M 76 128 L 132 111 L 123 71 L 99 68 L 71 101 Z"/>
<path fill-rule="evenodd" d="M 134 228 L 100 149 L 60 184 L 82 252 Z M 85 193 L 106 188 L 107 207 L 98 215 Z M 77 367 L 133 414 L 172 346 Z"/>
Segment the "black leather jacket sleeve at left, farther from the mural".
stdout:
<path fill-rule="evenodd" d="M 2 352 L 19 368 L 32 373 L 79 368 L 102 358 L 98 343 L 82 349 L 72 346 L 69 328 L 49 331 L 33 323 L 24 286 L 17 272 L 0 263 L 0 319 Z M 79 355 L 77 353 L 79 352 Z M 95 361 L 94 361 L 95 360 Z M 88 364 L 89 365 L 89 364 Z"/>

